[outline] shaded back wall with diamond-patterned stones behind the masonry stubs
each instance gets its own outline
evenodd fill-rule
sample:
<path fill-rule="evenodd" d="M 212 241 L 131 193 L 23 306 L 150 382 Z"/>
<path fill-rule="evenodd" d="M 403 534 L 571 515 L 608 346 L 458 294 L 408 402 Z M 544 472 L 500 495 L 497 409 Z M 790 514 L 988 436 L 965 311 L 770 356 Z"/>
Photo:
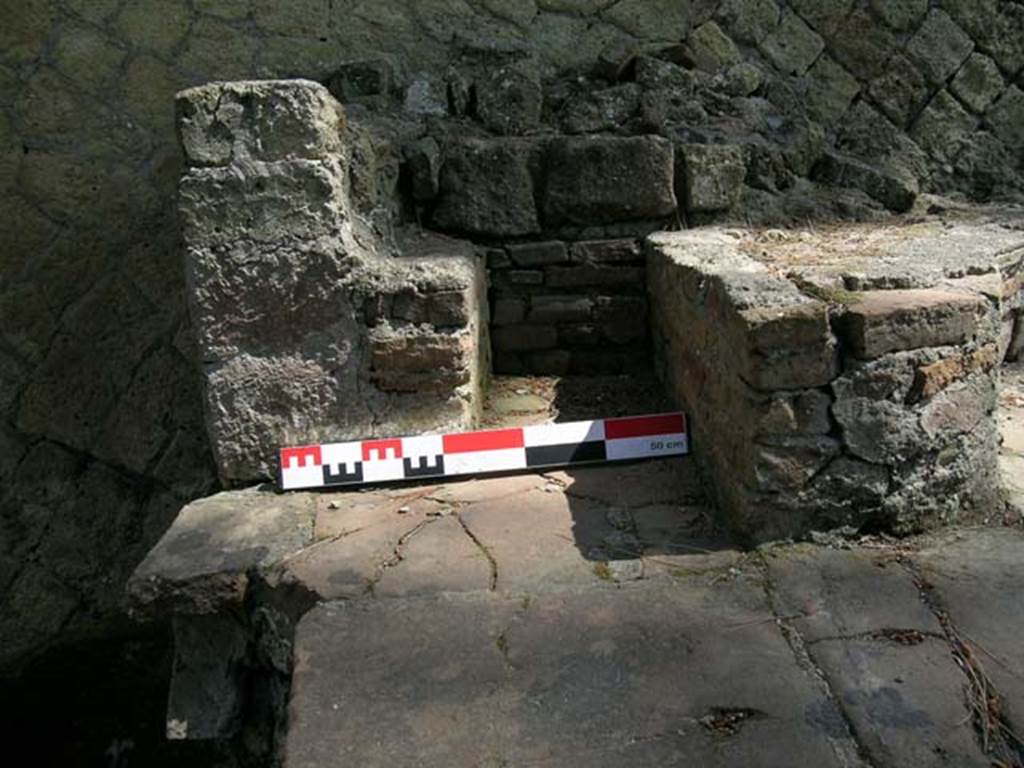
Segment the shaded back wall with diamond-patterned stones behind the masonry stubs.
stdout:
<path fill-rule="evenodd" d="M 714 216 L 802 221 L 903 207 L 919 189 L 1019 193 L 1022 29 L 1017 0 L 10 4 L 0 668 L 54 638 L 105 631 L 132 565 L 185 500 L 214 487 L 185 327 L 178 90 L 305 77 L 333 83 L 353 126 L 384 115 L 386 126 L 361 131 L 350 169 L 355 205 L 374 221 L 413 157 L 432 162 L 429 141 L 408 160 L 406 147 L 492 130 L 517 138 L 503 105 L 514 78 L 502 73 L 515 65 L 527 91 L 548 88 L 541 119 L 565 131 L 628 134 L 643 121 L 642 133 L 696 146 L 682 166 L 695 185 L 690 223 L 708 215 L 693 205 L 701 183 L 737 196 Z M 529 104 L 515 114 L 536 114 Z M 445 129 L 453 117 L 483 135 Z M 701 148 L 719 144 L 733 148 Z M 373 167 L 361 148 L 375 151 Z M 727 172 L 698 171 L 709 153 Z M 439 226 L 431 178 L 419 213 Z"/>

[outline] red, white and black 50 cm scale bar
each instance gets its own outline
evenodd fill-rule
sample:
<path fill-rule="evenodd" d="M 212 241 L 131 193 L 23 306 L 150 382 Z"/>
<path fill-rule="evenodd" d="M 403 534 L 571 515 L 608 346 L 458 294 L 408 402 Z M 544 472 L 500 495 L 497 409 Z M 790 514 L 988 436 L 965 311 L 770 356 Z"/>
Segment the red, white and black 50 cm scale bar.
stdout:
<path fill-rule="evenodd" d="M 629 461 L 689 453 L 680 413 L 281 450 L 284 490 Z"/>

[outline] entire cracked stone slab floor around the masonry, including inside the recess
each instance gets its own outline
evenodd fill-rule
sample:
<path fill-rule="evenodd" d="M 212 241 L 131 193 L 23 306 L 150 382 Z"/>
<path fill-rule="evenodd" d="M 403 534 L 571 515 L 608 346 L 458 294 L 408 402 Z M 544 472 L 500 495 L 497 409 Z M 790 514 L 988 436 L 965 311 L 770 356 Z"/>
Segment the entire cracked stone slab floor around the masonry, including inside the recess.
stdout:
<path fill-rule="evenodd" d="M 499 381 L 490 423 L 658 404 L 560 386 Z M 285 763 L 1020 766 L 1010 515 L 744 553 L 685 459 L 321 496 Z"/>

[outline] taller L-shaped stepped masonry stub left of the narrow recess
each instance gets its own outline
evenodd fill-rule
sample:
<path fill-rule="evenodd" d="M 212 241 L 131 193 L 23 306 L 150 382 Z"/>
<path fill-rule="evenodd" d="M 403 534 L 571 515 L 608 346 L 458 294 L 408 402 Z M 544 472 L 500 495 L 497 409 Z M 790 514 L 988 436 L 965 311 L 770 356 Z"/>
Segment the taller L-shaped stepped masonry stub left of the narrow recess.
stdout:
<path fill-rule="evenodd" d="M 472 247 L 399 232 L 393 251 L 360 224 L 344 111 L 317 83 L 214 83 L 177 101 L 187 293 L 221 480 L 274 476 L 283 445 L 473 426 L 487 343 Z"/>

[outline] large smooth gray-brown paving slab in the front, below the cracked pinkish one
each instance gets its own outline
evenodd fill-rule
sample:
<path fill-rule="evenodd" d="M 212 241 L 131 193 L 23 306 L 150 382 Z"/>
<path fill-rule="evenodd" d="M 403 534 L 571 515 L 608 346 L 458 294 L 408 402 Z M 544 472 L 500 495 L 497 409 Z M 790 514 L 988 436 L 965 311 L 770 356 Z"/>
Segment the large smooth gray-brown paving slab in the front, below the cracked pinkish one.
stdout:
<path fill-rule="evenodd" d="M 288 768 L 859 764 L 756 580 L 335 602 L 295 647 Z"/>

